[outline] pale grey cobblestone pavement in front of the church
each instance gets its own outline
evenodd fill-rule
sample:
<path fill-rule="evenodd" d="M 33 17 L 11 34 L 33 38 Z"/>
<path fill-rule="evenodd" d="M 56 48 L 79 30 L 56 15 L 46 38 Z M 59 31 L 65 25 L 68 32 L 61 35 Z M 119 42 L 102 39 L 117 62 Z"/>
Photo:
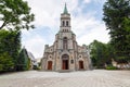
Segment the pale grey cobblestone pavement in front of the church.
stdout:
<path fill-rule="evenodd" d="M 130 87 L 130 71 L 18 72 L 0 75 L 0 87 Z"/>

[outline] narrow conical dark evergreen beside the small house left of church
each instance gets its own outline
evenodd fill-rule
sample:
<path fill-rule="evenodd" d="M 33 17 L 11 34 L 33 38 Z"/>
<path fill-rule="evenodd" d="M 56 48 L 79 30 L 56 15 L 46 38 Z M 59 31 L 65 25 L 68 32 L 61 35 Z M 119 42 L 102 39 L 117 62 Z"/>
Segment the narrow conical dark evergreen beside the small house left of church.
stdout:
<path fill-rule="evenodd" d="M 30 59 L 28 58 L 27 50 L 25 48 L 20 52 L 17 61 L 17 71 L 27 71 L 30 69 Z"/>

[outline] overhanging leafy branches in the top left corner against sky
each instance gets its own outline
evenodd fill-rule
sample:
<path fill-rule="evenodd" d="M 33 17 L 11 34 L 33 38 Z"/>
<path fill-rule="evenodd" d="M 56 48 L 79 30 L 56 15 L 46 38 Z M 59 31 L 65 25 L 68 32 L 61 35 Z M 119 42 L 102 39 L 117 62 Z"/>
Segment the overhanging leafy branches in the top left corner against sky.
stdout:
<path fill-rule="evenodd" d="M 2 22 L 0 29 L 29 29 L 34 28 L 30 23 L 35 20 L 35 15 L 30 13 L 28 3 L 23 0 L 0 0 L 0 21 Z"/>

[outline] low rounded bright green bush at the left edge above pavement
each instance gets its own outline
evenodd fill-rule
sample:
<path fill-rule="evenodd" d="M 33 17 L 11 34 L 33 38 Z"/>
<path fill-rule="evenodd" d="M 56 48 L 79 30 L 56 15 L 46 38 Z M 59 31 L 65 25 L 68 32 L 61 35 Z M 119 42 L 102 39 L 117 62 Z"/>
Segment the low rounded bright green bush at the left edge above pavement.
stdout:
<path fill-rule="evenodd" d="M 5 52 L 0 53 L 0 72 L 12 71 L 13 69 L 13 59 Z"/>

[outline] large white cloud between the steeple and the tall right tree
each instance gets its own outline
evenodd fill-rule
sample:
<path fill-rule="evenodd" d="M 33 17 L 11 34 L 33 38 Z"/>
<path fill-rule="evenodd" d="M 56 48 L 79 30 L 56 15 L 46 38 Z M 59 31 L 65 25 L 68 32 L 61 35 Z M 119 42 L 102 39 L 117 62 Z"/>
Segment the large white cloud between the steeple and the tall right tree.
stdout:
<path fill-rule="evenodd" d="M 77 35 L 77 41 L 79 45 L 89 45 L 94 39 L 107 42 L 109 40 L 108 30 L 106 30 L 105 24 L 98 21 L 94 17 L 94 13 L 80 14 L 77 17 L 73 17 L 73 30 Z"/>

